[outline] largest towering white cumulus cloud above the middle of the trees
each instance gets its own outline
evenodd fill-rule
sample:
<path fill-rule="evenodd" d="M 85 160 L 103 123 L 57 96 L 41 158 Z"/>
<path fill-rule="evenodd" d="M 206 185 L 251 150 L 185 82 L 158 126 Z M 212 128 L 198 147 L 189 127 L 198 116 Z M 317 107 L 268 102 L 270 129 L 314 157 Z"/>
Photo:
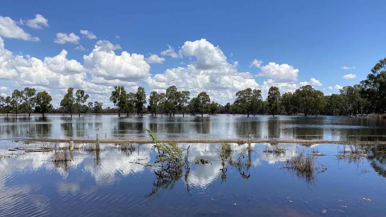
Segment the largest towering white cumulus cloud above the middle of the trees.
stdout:
<path fill-rule="evenodd" d="M 192 96 L 206 91 L 211 100 L 219 103 L 232 102 L 238 90 L 259 88 L 254 76 L 237 72 L 237 63 L 230 64 L 222 50 L 206 39 L 186 41 L 179 54 L 195 57 L 196 61 L 154 75 L 146 80 L 149 87 L 162 91 L 176 85 L 179 90 L 190 91 Z"/>

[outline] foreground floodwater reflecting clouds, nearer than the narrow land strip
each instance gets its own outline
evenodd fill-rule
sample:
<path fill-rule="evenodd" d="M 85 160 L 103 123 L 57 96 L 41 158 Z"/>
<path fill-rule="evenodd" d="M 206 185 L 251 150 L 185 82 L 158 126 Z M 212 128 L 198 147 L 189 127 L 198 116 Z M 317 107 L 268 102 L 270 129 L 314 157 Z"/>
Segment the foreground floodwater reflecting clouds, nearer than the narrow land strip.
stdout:
<path fill-rule="evenodd" d="M 58 117 L 59 118 L 59 117 Z M 99 153 L 66 151 L 65 166 L 53 151 L 8 151 L 23 142 L 0 143 L 0 216 L 384 216 L 386 148 L 357 146 L 366 157 L 338 158 L 347 146 L 278 144 L 284 153 L 264 153 L 251 144 L 239 165 L 222 161 L 221 144 L 190 144 L 189 167 L 168 178 L 153 164 L 152 144 L 101 144 Z M 51 144 L 63 146 L 64 144 Z M 178 144 L 188 148 L 189 144 Z M 89 144 L 83 144 L 88 147 Z M 130 146 L 131 147 L 131 146 Z M 232 160 L 247 144 L 231 144 Z M 286 166 L 301 150 L 318 151 L 319 167 L 303 175 Z M 11 154 L 10 158 L 4 156 Z M 186 151 L 183 152 L 185 156 Z M 207 158 L 210 164 L 195 164 Z M 327 170 L 320 169 L 326 167 Z"/>

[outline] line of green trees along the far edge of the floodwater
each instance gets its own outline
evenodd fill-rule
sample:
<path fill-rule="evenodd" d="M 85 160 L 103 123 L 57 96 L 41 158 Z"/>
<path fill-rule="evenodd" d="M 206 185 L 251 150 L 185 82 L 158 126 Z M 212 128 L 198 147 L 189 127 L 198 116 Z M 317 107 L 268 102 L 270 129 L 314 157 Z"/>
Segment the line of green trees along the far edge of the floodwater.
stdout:
<path fill-rule="evenodd" d="M 146 100 L 146 92 L 139 87 L 137 92 L 127 93 L 124 86 L 115 86 L 110 101 L 114 108 L 102 108 L 103 103 L 87 102 L 89 96 L 84 90 L 68 88 L 59 108 L 52 108 L 52 97 L 45 91 L 36 94 L 34 88 L 23 91 L 14 90 L 12 96 L 0 97 L 0 110 L 3 114 L 31 114 L 46 112 L 70 114 L 116 113 L 120 116 L 152 116 L 182 113 L 195 114 L 304 114 L 307 115 L 350 115 L 383 113 L 386 110 L 386 58 L 381 59 L 367 78 L 354 86 L 345 86 L 339 94 L 324 95 L 311 85 L 301 86 L 294 93 L 281 94 L 279 88 L 271 86 L 266 100 L 262 100 L 261 90 L 246 88 L 235 94 L 233 103 L 220 105 L 210 100 L 206 92 L 192 97 L 189 91 L 178 91 L 174 85 L 165 93 L 151 92 Z"/>

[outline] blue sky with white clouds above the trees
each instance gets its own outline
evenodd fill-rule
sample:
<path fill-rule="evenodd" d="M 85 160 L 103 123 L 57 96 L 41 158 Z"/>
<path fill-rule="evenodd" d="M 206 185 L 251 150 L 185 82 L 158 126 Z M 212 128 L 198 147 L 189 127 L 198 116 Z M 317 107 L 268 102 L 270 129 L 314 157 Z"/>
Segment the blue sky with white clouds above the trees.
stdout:
<path fill-rule="evenodd" d="M 245 88 L 325 95 L 386 56 L 384 1 L 3 1 L 0 95 L 66 89 L 113 106 L 114 86 L 233 102 Z"/>

